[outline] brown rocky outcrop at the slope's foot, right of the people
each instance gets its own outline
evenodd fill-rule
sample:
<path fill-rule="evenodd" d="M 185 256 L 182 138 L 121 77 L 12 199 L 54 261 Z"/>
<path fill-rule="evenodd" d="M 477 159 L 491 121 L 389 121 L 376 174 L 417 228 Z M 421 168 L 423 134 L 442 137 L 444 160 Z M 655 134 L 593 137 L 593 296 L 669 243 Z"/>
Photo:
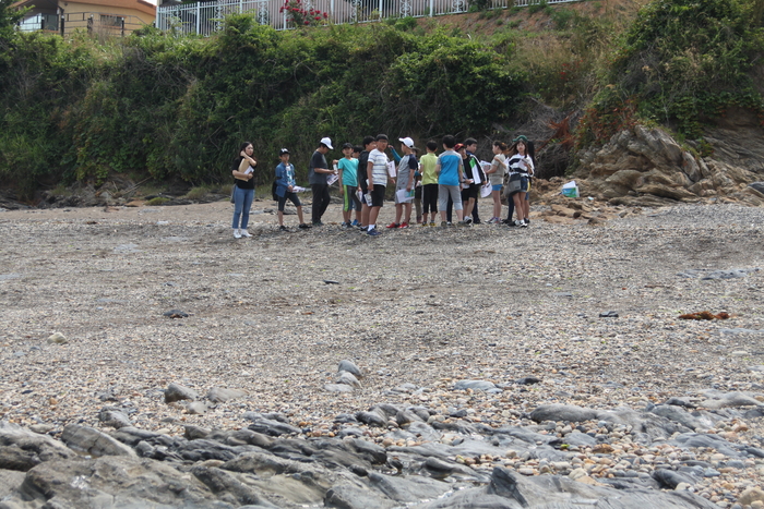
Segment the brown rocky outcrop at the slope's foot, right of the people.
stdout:
<path fill-rule="evenodd" d="M 748 113 L 736 116 L 751 123 Z M 764 181 L 764 138 L 757 124 L 727 122 L 709 130 L 702 144 L 688 145 L 696 154 L 711 154 L 696 156 L 666 131 L 637 125 L 613 135 L 602 147 L 582 150 L 574 177 L 582 196 L 612 205 L 656 206 L 708 198 L 764 205 L 764 194 L 751 185 Z"/>

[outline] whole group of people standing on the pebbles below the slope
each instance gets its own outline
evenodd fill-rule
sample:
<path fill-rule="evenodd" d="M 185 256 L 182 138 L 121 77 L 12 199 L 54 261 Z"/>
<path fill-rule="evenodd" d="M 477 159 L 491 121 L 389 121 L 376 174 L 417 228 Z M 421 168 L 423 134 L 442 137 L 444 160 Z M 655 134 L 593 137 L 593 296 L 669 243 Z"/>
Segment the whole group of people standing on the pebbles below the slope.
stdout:
<path fill-rule="evenodd" d="M 395 220 L 386 227 L 387 229 L 409 228 L 413 204 L 416 206 L 416 221 L 423 227 L 437 226 L 435 215 L 439 211 L 441 227 L 480 223 L 478 198 L 481 187 L 489 184 L 493 209 L 492 217 L 487 222 L 516 227 L 529 225 L 528 192 L 535 165 L 533 144 L 526 136 L 517 136 L 509 146 L 503 142 L 493 142 L 493 158 L 490 165 L 485 167 L 475 156 L 478 145 L 475 138 L 456 143 L 453 135 L 445 135 L 441 140 L 443 152 L 440 155 L 437 154 L 438 144 L 429 141 L 426 144 L 427 154 L 419 160 L 417 155 L 420 150 L 415 146 L 414 140 L 402 137 L 398 142 L 401 154 L 390 145 L 390 140 L 384 134 L 366 136 L 359 146 L 345 143 L 342 146 L 343 158 L 333 160 L 330 167 L 326 155 L 334 147 L 332 140 L 322 138 L 311 156 L 309 166 L 308 179 L 313 195 L 311 225 L 303 220 L 302 205 L 297 195 L 306 190 L 296 183 L 295 167 L 289 162 L 289 150 L 282 148 L 274 184 L 279 229 L 287 231 L 284 226 L 284 207 L 287 199 L 297 207 L 299 228 L 322 226 L 321 219 L 331 203 L 329 189 L 335 181 L 338 182 L 339 194 L 343 196 L 342 226 L 358 227 L 372 237 L 380 234 L 377 219 L 384 205 L 389 184 L 395 186 Z M 392 161 L 397 163 L 395 171 L 391 171 L 387 148 Z M 252 154 L 252 144 L 242 144 L 231 167 L 236 182 L 232 193 L 232 228 L 237 239 L 251 237 L 247 226 L 254 195 L 254 168 L 258 165 Z M 501 219 L 502 195 L 508 197 L 509 203 L 509 215 L 504 220 Z M 457 221 L 452 220 L 454 211 Z M 513 211 L 517 218 L 515 220 L 512 219 Z"/>

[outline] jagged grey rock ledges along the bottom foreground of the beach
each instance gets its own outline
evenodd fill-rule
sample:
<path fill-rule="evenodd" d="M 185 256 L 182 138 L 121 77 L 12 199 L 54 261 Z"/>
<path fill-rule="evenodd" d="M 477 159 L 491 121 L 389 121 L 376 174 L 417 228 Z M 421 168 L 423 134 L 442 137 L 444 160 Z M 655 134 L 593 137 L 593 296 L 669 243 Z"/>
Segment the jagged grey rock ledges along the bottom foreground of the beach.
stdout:
<path fill-rule="evenodd" d="M 458 380 L 454 390 L 492 389 Z M 713 480 L 764 458 L 736 435 L 747 429 L 737 409 L 761 407 L 760 396 L 707 391 L 642 411 L 546 404 L 522 426 L 501 427 L 468 412 L 380 403 L 337 415 L 322 436 L 254 412 L 242 415 L 248 428 L 188 426 L 183 437 L 69 424 L 65 446 L 0 422 L 0 509 L 711 509 L 727 504 Z M 709 400 L 725 404 L 694 409 L 714 407 Z M 379 425 L 381 444 L 368 439 Z M 757 496 L 756 486 L 744 488 L 747 499 Z"/>

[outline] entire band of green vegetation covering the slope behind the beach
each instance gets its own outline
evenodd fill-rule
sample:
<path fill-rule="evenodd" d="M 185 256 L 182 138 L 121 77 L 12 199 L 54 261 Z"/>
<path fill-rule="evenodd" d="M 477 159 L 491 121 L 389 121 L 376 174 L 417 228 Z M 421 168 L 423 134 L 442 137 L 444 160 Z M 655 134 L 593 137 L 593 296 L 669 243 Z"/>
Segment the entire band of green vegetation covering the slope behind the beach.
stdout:
<path fill-rule="evenodd" d="M 637 123 L 696 138 L 736 106 L 764 119 L 752 77 L 764 0 L 654 0 L 636 17 L 616 5 L 611 19 L 541 1 L 482 10 L 479 29 L 399 17 L 275 32 L 236 15 L 210 38 L 147 28 L 105 44 L 19 34 L 9 5 L 0 0 L 0 181 L 22 196 L 111 173 L 202 194 L 229 184 L 243 141 L 270 193 L 280 147 L 302 179 L 322 136 L 493 136 L 537 102 L 584 110 L 580 147 Z"/>

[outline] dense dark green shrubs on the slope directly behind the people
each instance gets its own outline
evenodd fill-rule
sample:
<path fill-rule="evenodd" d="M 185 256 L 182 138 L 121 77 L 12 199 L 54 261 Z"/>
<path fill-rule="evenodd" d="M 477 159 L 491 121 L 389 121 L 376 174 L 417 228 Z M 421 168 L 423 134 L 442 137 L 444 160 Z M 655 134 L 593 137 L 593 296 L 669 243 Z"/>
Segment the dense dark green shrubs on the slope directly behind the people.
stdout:
<path fill-rule="evenodd" d="M 289 147 L 305 172 L 322 136 L 479 134 L 511 118 L 526 90 L 510 57 L 441 31 L 275 32 L 248 15 L 207 39 L 151 28 L 106 46 L 19 35 L 2 54 L 0 177 L 27 192 L 110 172 L 199 185 L 229 179 L 244 140 L 266 168 Z"/>

